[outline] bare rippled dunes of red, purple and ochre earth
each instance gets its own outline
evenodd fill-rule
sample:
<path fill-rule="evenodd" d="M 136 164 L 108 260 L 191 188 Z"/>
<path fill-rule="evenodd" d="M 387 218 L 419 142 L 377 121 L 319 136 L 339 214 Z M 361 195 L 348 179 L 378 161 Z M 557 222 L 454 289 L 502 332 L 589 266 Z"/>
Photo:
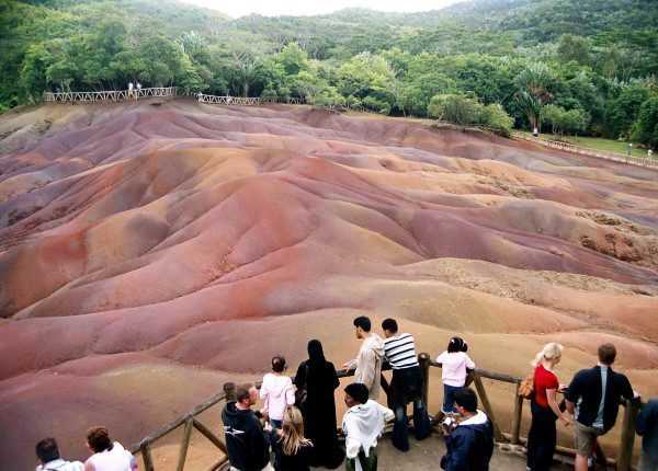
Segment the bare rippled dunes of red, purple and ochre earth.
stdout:
<path fill-rule="evenodd" d="M 0 137 L 0 469 L 34 466 L 44 436 L 83 459 L 95 424 L 134 444 L 275 353 L 293 369 L 310 338 L 340 365 L 360 314 L 397 318 L 432 356 L 460 334 L 517 376 L 560 342 L 563 382 L 610 341 L 658 394 L 650 170 L 191 100 L 24 108 Z M 432 410 L 440 391 L 435 370 Z M 490 387 L 502 420 L 512 394 Z"/>

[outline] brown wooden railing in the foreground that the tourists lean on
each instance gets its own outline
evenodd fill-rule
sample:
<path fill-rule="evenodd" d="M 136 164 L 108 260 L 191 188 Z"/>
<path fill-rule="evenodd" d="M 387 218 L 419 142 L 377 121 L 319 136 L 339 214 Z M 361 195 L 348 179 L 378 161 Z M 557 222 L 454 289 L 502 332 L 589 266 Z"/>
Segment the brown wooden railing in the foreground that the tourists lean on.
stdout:
<path fill-rule="evenodd" d="M 430 367 L 441 367 L 440 364 L 432 360 L 427 353 L 422 353 L 418 355 L 418 361 L 420 364 L 424 381 L 423 397 L 424 402 L 428 404 L 429 391 L 430 391 Z M 389 370 L 390 366 L 385 364 L 382 368 L 384 371 Z M 347 371 L 344 369 L 338 370 L 339 378 L 347 378 L 354 376 L 354 371 Z M 500 422 L 496 418 L 496 413 L 491 403 L 489 401 L 489 397 L 485 389 L 485 384 L 483 382 L 483 378 L 491 379 L 495 381 L 500 381 L 503 383 L 513 384 L 513 397 L 510 397 L 510 407 L 513 406 L 512 414 L 512 424 L 511 430 L 509 433 L 502 432 L 500 429 Z M 383 386 L 386 386 L 386 380 L 382 376 Z M 526 443 L 526 438 L 521 437 L 521 421 L 523 416 L 523 398 L 520 398 L 517 394 L 517 390 L 519 384 L 521 383 L 521 378 L 499 374 L 496 371 L 487 371 L 484 369 L 476 369 L 468 376 L 467 384 L 475 384 L 477 395 L 479 398 L 479 403 L 481 409 L 487 413 L 489 418 L 494 424 L 494 436 L 496 441 L 500 444 L 509 443 L 511 445 L 523 445 Z M 261 383 L 256 383 L 256 387 L 260 389 Z M 183 427 L 183 435 L 179 446 L 179 455 L 177 461 L 177 471 L 182 471 L 185 466 L 185 460 L 188 457 L 188 450 L 190 447 L 190 439 L 192 435 L 192 429 L 195 428 L 198 430 L 204 437 L 206 437 L 216 448 L 218 448 L 224 457 L 215 461 L 209 468 L 208 471 L 214 471 L 222 469 L 223 466 L 227 464 L 228 458 L 226 452 L 226 444 L 211 429 L 201 423 L 198 415 L 209 407 L 219 404 L 223 401 L 234 399 L 234 390 L 235 383 L 227 382 L 224 384 L 224 391 L 215 394 L 209 398 L 207 401 L 202 404 L 196 405 L 194 409 L 189 411 L 185 414 L 180 415 L 179 417 L 171 421 L 169 424 L 164 425 L 160 429 L 154 432 L 152 434 L 146 436 L 139 443 L 129 448 L 133 455 L 140 453 L 144 467 L 146 471 L 154 471 L 156 468 L 154 466 L 154 460 L 151 457 L 152 445 L 159 441 L 161 438 L 166 437 L 173 430 L 179 427 Z M 512 405 L 513 404 L 513 405 Z M 637 417 L 637 413 L 639 411 L 640 402 L 639 401 L 627 401 L 624 403 L 624 418 L 622 421 L 622 436 L 620 439 L 620 446 L 616 453 L 616 459 L 605 459 L 600 451 L 599 458 L 605 459 L 609 464 L 615 467 L 615 469 L 620 471 L 631 471 L 631 461 L 633 456 L 633 444 L 635 441 L 635 421 Z M 567 447 L 556 447 L 556 451 L 566 456 L 575 456 L 576 450 Z"/>

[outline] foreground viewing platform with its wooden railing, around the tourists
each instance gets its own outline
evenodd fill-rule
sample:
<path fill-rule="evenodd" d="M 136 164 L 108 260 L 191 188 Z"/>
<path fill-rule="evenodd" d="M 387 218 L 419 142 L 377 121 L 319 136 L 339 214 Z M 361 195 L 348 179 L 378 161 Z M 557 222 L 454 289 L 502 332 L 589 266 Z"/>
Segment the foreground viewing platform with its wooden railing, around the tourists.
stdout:
<path fill-rule="evenodd" d="M 426 378 L 423 395 L 426 403 L 431 405 L 432 401 L 428 401 L 428 394 L 432 389 L 430 372 L 432 368 L 440 368 L 440 365 L 432 360 L 428 354 L 420 354 L 418 359 Z M 390 367 L 388 365 L 385 365 L 383 368 L 384 371 L 389 369 Z M 350 378 L 353 377 L 353 371 L 338 370 L 338 377 L 340 379 Z M 504 409 L 507 410 L 499 406 L 496 409 L 492 407 L 483 379 L 487 380 L 486 383 L 490 388 L 496 387 L 496 383 L 499 383 L 498 386 L 500 386 L 500 383 L 503 386 L 507 384 L 507 388 L 504 389 L 511 392 L 509 402 L 506 401 L 508 406 Z M 497 446 L 494 450 L 494 457 L 490 463 L 490 469 L 492 471 L 525 470 L 525 452 L 522 446 L 525 444 L 525 439 L 520 435 L 525 401 L 517 394 L 521 380 L 521 378 L 509 375 L 476 369 L 469 375 L 466 382 L 467 386 L 475 387 L 474 389 L 478 397 L 478 409 L 485 411 L 494 423 L 494 436 Z M 257 388 L 260 388 L 260 382 L 257 382 L 256 386 Z M 341 402 L 339 402 L 339 398 L 342 398 L 342 388 L 344 388 L 344 386 L 347 386 L 347 381 L 341 382 L 341 386 L 336 390 L 339 424 L 341 423 L 342 416 L 341 409 L 338 407 L 339 405 L 342 405 Z M 230 400 L 230 398 L 232 398 L 235 387 L 235 383 L 227 382 L 224 384 L 224 391 L 215 394 L 202 404 L 198 404 L 188 413 L 180 415 L 159 430 L 154 432 L 138 444 L 132 446 L 129 450 L 137 457 L 140 466 L 139 469 L 145 469 L 147 471 L 228 470 L 229 466 L 226 455 L 220 412 L 222 407 L 226 404 L 227 399 Z M 432 390 L 432 392 L 434 391 Z M 434 395 L 435 394 L 432 394 L 432 398 Z M 384 393 L 379 397 L 378 402 L 385 404 L 386 397 Z M 620 411 L 617 425 L 610 434 L 613 435 L 612 433 L 614 430 L 620 432 L 621 428 L 615 459 L 605 458 L 601 455 L 597 458 L 600 461 L 606 462 L 608 469 L 631 471 L 635 443 L 635 420 L 640 403 L 639 401 L 628 401 L 623 405 L 625 405 L 625 407 Z M 431 412 L 432 410 L 430 409 L 430 413 Z M 498 418 L 503 415 L 511 416 L 511 429 L 509 432 L 503 432 L 501 429 L 502 422 Z M 390 428 L 392 424 L 387 425 L 385 435 L 378 440 L 379 470 L 420 471 L 440 469 L 441 457 L 445 453 L 445 441 L 436 429 L 434 429 L 430 437 L 422 441 L 416 441 L 411 436 L 409 440 L 411 446 L 410 450 L 401 452 L 393 447 L 390 438 L 386 434 Z M 194 429 L 196 429 L 198 434 L 195 434 L 194 439 L 192 439 Z M 572 433 L 571 429 L 569 433 Z M 553 469 L 556 471 L 572 470 L 571 462 L 574 456 L 574 449 L 558 445 L 556 447 L 555 456 L 556 464 L 554 464 Z M 339 469 L 342 469 L 342 467 L 339 467 Z"/>

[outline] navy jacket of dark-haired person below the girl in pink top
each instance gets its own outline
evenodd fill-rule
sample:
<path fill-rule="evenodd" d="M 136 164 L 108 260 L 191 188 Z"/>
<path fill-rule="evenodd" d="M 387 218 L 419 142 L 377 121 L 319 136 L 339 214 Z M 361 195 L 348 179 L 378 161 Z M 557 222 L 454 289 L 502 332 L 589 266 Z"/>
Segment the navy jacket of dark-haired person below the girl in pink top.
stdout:
<path fill-rule="evenodd" d="M 488 471 L 494 455 L 494 425 L 478 411 L 473 421 L 457 425 L 445 436 L 445 446 L 447 452 L 441 459 L 445 471 Z"/>

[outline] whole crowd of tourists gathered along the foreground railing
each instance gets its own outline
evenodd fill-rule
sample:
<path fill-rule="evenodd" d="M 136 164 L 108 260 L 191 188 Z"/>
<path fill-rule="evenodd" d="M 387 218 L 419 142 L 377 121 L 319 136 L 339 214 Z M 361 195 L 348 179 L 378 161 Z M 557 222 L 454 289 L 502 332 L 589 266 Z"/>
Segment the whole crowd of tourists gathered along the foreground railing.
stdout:
<path fill-rule="evenodd" d="M 439 426 L 445 439 L 441 469 L 488 470 L 494 425 L 477 409 L 475 392 L 465 386 L 469 371 L 475 369 L 466 342 L 456 336 L 451 338 L 446 351 L 436 358 L 442 366 L 443 405 L 431 417 L 423 400 L 424 378 L 413 336 L 398 332 L 394 319 L 382 323 L 384 338 L 372 332 L 366 317 L 354 319 L 353 324 L 356 337 L 363 342 L 356 358 L 343 365 L 355 369 L 355 382 L 343 390 L 348 410 L 340 433 L 344 436 L 344 447 L 340 446 L 337 433 L 338 374 L 326 359 L 321 343 L 311 340 L 308 359 L 299 365 L 294 380 L 285 375 L 285 358 L 276 355 L 260 393 L 253 383 L 235 388 L 235 399 L 227 401 L 222 411 L 230 469 L 308 471 L 310 467 L 337 469 L 344 463 L 348 471 L 374 471 L 377 440 L 388 422 L 393 422 L 393 445 L 401 451 L 409 450 L 407 407 L 411 403 L 415 438 L 422 440 Z M 548 470 L 553 464 L 557 420 L 565 426 L 574 426 L 576 471 L 586 471 L 598 455 L 598 437 L 615 424 L 621 399 L 639 398 L 628 379 L 612 369 L 616 357 L 614 345 L 600 345 L 597 366 L 578 371 L 568 387 L 560 384 L 555 374 L 563 353 L 561 345 L 549 343 L 532 361 L 533 374 L 529 378 L 532 420 L 526 445 L 526 464 L 532 471 Z M 385 361 L 393 369 L 389 384 L 381 375 Z M 377 402 L 382 389 L 386 391 L 387 406 Z M 559 403 L 557 393 L 564 393 Z M 264 406 L 254 411 L 251 407 L 259 395 Z M 637 433 L 644 436 L 638 470 L 658 470 L 658 399 L 642 409 Z M 55 439 L 39 441 L 37 471 L 137 469 L 135 458 L 113 441 L 104 427 L 90 428 L 86 439 L 92 455 L 84 464 L 61 459 Z"/>

